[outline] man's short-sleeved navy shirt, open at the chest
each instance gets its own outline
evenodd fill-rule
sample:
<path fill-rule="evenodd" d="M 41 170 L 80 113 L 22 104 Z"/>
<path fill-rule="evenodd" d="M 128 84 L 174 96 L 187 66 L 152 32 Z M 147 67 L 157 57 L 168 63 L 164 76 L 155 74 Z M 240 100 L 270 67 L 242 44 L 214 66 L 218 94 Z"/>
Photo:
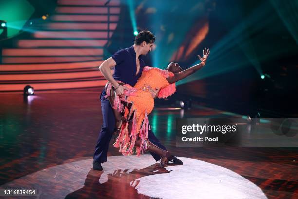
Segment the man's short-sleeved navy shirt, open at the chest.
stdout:
<path fill-rule="evenodd" d="M 136 74 L 136 53 L 133 46 L 118 50 L 114 55 L 112 55 L 112 59 L 116 62 L 113 78 L 117 81 L 134 86 L 139 77 L 141 77 L 143 68 L 145 67 L 142 55 L 139 56 L 140 70 L 138 74 Z M 105 89 L 103 90 L 101 96 L 102 95 L 106 95 Z"/>

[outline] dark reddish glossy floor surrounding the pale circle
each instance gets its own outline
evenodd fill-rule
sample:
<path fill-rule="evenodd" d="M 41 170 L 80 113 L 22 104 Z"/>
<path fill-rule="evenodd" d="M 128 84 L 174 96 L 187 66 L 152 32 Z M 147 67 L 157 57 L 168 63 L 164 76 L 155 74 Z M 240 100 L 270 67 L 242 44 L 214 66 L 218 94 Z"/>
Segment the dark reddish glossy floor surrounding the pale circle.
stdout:
<path fill-rule="evenodd" d="M 99 94 L 99 90 L 37 93 L 27 101 L 21 94 L 0 94 L 0 184 L 90 159 L 102 125 Z M 155 109 L 149 121 L 156 136 L 175 155 L 230 169 L 255 183 L 268 198 L 298 198 L 297 148 L 175 147 L 175 118 L 224 116 L 223 111 L 205 108 L 184 113 Z M 112 143 L 108 155 L 120 155 Z M 110 191 L 102 197 L 108 197 Z"/>

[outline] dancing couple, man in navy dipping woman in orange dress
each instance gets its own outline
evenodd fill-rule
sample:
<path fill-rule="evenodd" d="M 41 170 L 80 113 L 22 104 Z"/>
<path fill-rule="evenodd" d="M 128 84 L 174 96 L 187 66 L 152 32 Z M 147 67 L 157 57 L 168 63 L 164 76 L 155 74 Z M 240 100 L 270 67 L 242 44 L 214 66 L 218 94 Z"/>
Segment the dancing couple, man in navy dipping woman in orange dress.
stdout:
<path fill-rule="evenodd" d="M 166 98 L 175 91 L 175 82 L 201 69 L 209 56 L 209 49 L 199 55 L 200 64 L 186 70 L 177 63 L 170 63 L 165 70 L 145 66 L 142 57 L 151 51 L 155 41 L 150 31 L 141 31 L 130 48 L 117 51 L 99 67 L 108 80 L 101 93 L 103 125 L 99 133 L 93 157 L 93 169 L 102 170 L 107 161 L 109 142 L 113 133 L 118 137 L 113 144 L 123 155 L 139 156 L 149 151 L 164 167 L 169 162 L 182 165 L 159 142 L 150 129 L 148 115 L 154 108 L 154 98 Z M 115 67 L 114 74 L 110 68 Z"/>

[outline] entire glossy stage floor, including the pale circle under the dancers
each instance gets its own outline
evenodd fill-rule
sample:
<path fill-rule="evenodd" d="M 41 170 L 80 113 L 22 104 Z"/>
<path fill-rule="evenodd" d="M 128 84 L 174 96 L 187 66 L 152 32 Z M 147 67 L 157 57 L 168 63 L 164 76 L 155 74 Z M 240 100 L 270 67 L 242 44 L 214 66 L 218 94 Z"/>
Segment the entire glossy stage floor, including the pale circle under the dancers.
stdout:
<path fill-rule="evenodd" d="M 184 112 L 156 108 L 149 115 L 153 132 L 184 160 L 183 166 L 160 169 L 150 155 L 120 156 L 112 146 L 114 136 L 105 171 L 94 171 L 92 156 L 102 125 L 99 95 L 99 90 L 40 92 L 26 101 L 21 94 L 0 94 L 0 188 L 39 187 L 40 198 L 166 199 L 186 196 L 179 195 L 183 190 L 194 198 L 230 198 L 221 188 L 237 199 L 249 198 L 248 192 L 251 198 L 298 198 L 297 148 L 176 148 L 175 118 L 228 117 L 201 106 Z M 206 175 L 204 168 L 217 174 Z M 231 186 L 235 183 L 239 186 Z"/>

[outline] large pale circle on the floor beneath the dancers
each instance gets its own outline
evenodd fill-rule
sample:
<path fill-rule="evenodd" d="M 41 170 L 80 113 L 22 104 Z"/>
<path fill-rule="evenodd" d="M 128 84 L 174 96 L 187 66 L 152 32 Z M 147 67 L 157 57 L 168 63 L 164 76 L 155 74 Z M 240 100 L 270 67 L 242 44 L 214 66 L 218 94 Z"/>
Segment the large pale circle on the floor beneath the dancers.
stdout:
<path fill-rule="evenodd" d="M 179 159 L 184 165 L 160 168 L 149 154 L 109 156 L 104 171 L 93 170 L 93 159 L 85 159 L 35 172 L 0 188 L 35 188 L 40 199 L 267 199 L 258 186 L 229 169 Z"/>

